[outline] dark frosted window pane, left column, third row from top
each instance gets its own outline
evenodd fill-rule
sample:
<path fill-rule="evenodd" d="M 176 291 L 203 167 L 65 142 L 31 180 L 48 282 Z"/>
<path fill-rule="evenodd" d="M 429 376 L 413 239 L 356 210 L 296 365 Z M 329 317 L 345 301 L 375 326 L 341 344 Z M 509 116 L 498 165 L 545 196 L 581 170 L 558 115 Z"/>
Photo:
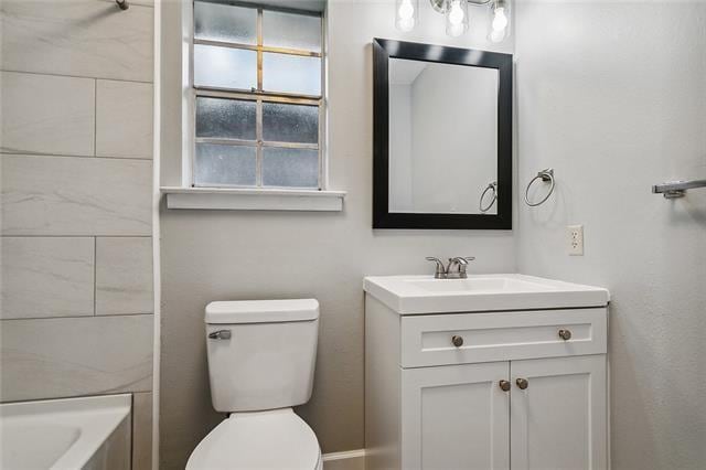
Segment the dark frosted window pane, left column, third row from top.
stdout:
<path fill-rule="evenodd" d="M 196 97 L 196 137 L 255 140 L 257 104 L 240 99 Z"/>

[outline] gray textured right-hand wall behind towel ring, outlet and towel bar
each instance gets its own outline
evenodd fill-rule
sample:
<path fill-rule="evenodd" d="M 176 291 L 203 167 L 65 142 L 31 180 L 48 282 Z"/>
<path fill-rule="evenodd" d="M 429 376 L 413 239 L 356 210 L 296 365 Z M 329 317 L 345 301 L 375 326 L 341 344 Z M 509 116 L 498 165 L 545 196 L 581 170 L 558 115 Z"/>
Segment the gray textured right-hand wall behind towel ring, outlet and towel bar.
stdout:
<path fill-rule="evenodd" d="M 522 273 L 611 290 L 612 468 L 706 464 L 706 3 L 521 2 L 518 163 L 556 196 L 520 212 Z M 585 224 L 586 256 L 565 254 Z"/>

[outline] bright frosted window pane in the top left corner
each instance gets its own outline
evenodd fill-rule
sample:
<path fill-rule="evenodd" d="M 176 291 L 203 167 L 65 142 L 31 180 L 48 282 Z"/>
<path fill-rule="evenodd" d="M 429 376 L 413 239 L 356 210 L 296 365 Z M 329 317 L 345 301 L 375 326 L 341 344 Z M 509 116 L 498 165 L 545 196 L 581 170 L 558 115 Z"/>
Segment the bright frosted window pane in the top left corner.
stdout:
<path fill-rule="evenodd" d="M 257 44 L 257 10 L 196 1 L 194 38 Z"/>

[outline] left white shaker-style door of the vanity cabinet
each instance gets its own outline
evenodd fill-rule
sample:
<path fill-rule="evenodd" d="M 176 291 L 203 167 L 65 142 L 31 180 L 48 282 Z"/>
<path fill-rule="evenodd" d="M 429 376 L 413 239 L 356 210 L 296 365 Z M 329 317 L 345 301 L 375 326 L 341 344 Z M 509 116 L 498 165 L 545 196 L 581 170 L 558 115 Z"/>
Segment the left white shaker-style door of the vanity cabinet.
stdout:
<path fill-rule="evenodd" d="M 506 469 L 509 362 L 402 371 L 402 468 Z"/>

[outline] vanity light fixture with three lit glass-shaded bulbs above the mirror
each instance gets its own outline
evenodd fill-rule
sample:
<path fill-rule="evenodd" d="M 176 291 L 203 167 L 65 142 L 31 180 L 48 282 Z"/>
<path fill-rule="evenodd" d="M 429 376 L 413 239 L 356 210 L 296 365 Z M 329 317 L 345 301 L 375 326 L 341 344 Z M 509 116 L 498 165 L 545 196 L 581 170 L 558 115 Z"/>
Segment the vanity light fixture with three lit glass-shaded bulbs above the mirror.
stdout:
<path fill-rule="evenodd" d="M 510 35 L 510 0 L 429 0 L 429 3 L 446 15 L 446 33 L 452 38 L 469 30 L 469 6 L 490 9 L 489 41 L 502 42 Z M 411 31 L 418 23 L 419 0 L 396 0 L 395 7 L 397 29 Z"/>

